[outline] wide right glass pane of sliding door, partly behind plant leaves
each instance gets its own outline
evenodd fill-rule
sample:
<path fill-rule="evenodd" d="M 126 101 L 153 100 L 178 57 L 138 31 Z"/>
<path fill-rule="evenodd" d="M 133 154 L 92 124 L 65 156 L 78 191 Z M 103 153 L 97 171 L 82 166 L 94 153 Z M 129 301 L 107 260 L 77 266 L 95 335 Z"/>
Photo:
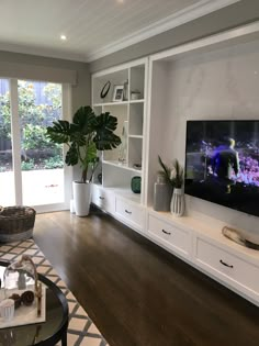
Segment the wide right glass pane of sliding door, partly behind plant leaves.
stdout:
<path fill-rule="evenodd" d="M 46 138 L 46 127 L 61 118 L 61 85 L 19 80 L 18 94 L 23 204 L 61 203 L 63 146 Z"/>

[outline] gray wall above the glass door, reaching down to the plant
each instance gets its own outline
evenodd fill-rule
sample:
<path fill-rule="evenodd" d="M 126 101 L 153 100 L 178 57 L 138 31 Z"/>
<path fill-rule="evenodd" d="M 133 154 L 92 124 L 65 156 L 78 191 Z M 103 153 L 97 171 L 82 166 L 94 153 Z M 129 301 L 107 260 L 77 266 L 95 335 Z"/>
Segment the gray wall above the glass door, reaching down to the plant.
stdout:
<path fill-rule="evenodd" d="M 37 67 L 38 69 L 44 68 L 46 80 L 48 79 L 47 75 L 53 74 L 54 68 L 68 71 L 75 70 L 77 83 L 72 86 L 72 112 L 80 105 L 87 105 L 91 102 L 91 80 L 88 64 L 0 51 L 0 65 L 7 62 L 15 64 L 15 68 L 21 68 L 21 71 L 24 66 L 29 65 L 32 66 L 34 70 L 37 70 Z"/>

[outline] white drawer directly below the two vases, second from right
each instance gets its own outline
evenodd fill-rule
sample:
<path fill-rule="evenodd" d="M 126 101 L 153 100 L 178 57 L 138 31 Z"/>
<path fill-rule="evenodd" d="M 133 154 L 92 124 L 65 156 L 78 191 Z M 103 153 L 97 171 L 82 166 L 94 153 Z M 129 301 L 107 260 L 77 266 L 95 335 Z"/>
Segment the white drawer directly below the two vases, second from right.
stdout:
<path fill-rule="evenodd" d="M 190 235 L 188 231 L 180 230 L 174 225 L 148 215 L 148 233 L 151 237 L 162 242 L 174 252 L 187 256 L 190 250 Z"/>

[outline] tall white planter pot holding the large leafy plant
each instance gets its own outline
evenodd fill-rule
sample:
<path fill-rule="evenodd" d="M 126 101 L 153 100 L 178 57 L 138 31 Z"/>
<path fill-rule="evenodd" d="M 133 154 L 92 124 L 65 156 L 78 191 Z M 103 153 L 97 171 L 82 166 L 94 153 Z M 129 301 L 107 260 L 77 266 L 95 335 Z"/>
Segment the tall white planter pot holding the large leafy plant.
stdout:
<path fill-rule="evenodd" d="M 72 181 L 74 208 L 77 216 L 87 216 L 91 203 L 91 183 Z"/>

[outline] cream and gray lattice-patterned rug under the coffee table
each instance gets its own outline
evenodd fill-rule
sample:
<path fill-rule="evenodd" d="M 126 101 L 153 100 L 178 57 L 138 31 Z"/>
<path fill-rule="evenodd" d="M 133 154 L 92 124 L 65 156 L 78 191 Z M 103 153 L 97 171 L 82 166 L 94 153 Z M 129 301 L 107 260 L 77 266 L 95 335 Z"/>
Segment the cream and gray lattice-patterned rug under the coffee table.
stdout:
<path fill-rule="evenodd" d="M 23 254 L 30 255 L 37 267 L 37 272 L 55 282 L 67 298 L 69 305 L 68 346 L 109 346 L 34 241 L 29 239 L 0 245 L 0 260 L 16 260 Z M 59 343 L 59 345 L 61 344 Z"/>

